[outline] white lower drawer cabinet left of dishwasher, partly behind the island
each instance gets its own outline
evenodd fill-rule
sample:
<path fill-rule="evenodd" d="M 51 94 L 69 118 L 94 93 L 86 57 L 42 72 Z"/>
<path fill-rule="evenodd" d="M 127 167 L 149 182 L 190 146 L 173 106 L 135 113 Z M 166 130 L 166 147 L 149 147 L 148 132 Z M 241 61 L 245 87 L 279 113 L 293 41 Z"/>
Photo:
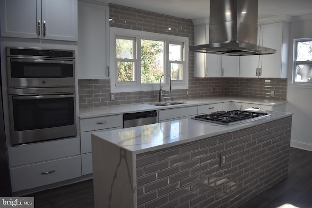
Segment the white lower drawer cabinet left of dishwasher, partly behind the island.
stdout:
<path fill-rule="evenodd" d="M 81 169 L 82 175 L 93 172 L 91 134 L 123 127 L 122 115 L 80 119 Z"/>

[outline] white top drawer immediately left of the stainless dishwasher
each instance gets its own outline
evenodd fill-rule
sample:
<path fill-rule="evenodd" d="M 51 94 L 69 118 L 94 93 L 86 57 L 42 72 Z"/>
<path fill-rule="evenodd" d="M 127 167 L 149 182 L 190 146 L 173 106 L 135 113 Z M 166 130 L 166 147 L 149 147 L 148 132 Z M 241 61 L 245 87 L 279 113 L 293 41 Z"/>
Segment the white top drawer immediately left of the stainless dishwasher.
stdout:
<path fill-rule="evenodd" d="M 114 127 L 122 128 L 122 115 L 112 115 L 97 118 L 87 118 L 80 120 L 80 132 L 108 129 Z"/>

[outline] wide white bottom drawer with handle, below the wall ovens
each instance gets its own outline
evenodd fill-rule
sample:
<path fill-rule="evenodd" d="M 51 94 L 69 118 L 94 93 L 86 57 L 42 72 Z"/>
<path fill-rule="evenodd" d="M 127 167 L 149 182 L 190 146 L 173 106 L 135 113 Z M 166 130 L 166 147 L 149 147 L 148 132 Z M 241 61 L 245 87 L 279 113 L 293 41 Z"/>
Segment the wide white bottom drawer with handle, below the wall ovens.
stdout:
<path fill-rule="evenodd" d="M 48 173 L 50 172 L 50 173 Z M 80 155 L 10 169 L 12 192 L 81 176 Z"/>

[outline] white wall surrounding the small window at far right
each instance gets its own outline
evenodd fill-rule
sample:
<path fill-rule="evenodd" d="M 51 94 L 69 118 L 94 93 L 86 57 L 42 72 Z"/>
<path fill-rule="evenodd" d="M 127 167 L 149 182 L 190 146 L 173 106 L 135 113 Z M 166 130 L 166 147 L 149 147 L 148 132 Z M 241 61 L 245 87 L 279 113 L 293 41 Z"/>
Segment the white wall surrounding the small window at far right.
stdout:
<path fill-rule="evenodd" d="M 312 151 L 312 86 L 292 84 L 293 39 L 312 38 L 312 14 L 292 18 L 289 36 L 286 111 L 292 116 L 291 146 Z"/>

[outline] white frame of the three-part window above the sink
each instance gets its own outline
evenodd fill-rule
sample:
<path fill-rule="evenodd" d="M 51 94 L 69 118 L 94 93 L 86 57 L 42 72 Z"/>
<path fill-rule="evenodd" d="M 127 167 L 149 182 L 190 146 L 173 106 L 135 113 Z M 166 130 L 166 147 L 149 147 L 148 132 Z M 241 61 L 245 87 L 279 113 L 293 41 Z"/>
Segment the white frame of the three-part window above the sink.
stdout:
<path fill-rule="evenodd" d="M 125 38 L 125 39 L 135 39 L 135 52 L 134 56 L 136 57 L 135 63 L 135 77 L 133 82 L 118 82 L 118 70 L 117 70 L 117 58 L 116 58 L 116 38 Z M 182 49 L 182 57 L 184 60 L 182 62 L 182 80 L 172 80 L 171 85 L 172 89 L 188 89 L 189 85 L 189 70 L 188 70 L 188 37 L 174 36 L 169 34 L 159 34 L 146 31 L 130 30 L 124 28 L 110 28 L 110 64 L 111 64 L 111 92 L 112 93 L 121 93 L 121 92 L 135 92 L 135 91 L 155 91 L 159 90 L 160 83 L 141 83 L 141 39 L 146 40 L 156 40 L 164 41 L 164 70 L 166 74 L 171 74 L 170 72 L 170 63 L 169 61 L 169 44 L 181 44 L 184 48 Z M 130 60 L 130 59 L 129 59 Z M 173 63 L 176 63 L 173 62 Z M 168 79 L 162 79 L 162 82 L 169 83 Z"/>

